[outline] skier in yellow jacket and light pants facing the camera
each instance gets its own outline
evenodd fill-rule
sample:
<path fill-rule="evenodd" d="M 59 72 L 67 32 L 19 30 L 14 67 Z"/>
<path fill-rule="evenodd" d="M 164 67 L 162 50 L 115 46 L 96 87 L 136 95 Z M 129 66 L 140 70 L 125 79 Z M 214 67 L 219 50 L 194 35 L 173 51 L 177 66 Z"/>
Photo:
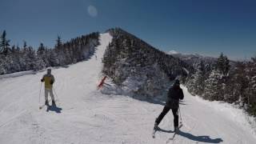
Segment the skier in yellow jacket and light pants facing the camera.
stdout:
<path fill-rule="evenodd" d="M 53 93 L 53 84 L 55 82 L 54 75 L 51 74 L 51 70 L 47 69 L 47 74 L 45 74 L 41 82 L 45 82 L 45 98 L 46 98 L 46 105 L 49 105 L 48 102 L 48 94 L 50 93 L 50 98 L 52 99 L 52 105 L 55 105 L 55 100 L 54 100 L 54 93 Z"/>

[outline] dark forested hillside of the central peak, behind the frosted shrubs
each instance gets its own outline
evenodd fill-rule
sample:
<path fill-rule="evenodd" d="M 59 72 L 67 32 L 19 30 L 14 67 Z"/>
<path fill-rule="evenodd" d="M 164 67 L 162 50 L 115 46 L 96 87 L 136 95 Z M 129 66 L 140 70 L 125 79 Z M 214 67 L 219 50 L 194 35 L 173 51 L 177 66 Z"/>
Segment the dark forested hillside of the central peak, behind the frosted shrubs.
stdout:
<path fill-rule="evenodd" d="M 122 77 L 116 75 L 118 73 L 115 73 L 115 71 L 120 71 L 126 66 L 135 70 L 136 67 L 157 64 L 170 79 L 174 79 L 178 74 L 186 75 L 186 71 L 183 68 L 190 66 L 180 59 L 150 46 L 142 39 L 120 28 L 108 31 L 113 36 L 113 39 L 103 57 L 103 73 L 113 79 L 118 79 L 117 83 L 123 82 L 127 75 Z"/>

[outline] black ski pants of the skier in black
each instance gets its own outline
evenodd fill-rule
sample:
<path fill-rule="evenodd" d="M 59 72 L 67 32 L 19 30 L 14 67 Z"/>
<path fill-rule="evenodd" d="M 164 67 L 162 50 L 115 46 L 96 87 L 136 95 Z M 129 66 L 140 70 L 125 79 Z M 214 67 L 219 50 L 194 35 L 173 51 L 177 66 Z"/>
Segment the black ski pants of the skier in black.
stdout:
<path fill-rule="evenodd" d="M 162 121 L 162 118 L 165 117 L 165 115 L 170 110 L 170 107 L 165 106 L 162 110 L 162 113 L 158 116 L 158 118 L 155 120 L 155 123 L 159 124 Z M 178 126 L 178 109 L 171 109 L 174 114 L 174 127 Z"/>

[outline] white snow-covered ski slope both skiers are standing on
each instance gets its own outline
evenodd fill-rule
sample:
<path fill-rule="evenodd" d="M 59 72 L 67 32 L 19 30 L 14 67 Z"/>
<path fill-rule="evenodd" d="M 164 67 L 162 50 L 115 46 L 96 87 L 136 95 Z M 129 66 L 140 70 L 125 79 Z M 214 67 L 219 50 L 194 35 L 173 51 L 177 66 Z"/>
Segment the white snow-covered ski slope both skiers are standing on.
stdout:
<path fill-rule="evenodd" d="M 38 110 L 40 79 L 46 72 L 0 79 L 0 143 L 2 144 L 159 144 L 173 135 L 173 116 L 166 114 L 152 138 L 154 120 L 163 106 L 139 101 L 123 95 L 101 94 L 102 55 L 111 41 L 110 34 L 101 34 L 97 58 L 78 62 L 68 68 L 54 69 L 54 90 L 58 94 L 58 110 Z M 231 109 L 218 104 L 209 106 L 191 96 L 182 86 L 185 99 L 181 105 L 181 133 L 169 143 L 248 143 L 256 142 L 250 126 Z M 56 97 L 55 97 L 56 98 Z M 242 123 L 244 122 L 244 123 Z"/>

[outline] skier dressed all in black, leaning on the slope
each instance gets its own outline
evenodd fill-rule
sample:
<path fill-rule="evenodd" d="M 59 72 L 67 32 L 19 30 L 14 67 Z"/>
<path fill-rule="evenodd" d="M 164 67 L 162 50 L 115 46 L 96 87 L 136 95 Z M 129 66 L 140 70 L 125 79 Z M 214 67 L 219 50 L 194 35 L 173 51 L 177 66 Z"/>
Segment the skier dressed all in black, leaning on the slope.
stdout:
<path fill-rule="evenodd" d="M 170 87 L 168 91 L 168 98 L 166 100 L 166 106 L 164 106 L 162 113 L 154 122 L 154 130 L 157 130 L 159 123 L 162 121 L 162 118 L 168 113 L 171 109 L 174 114 L 174 131 L 178 130 L 178 103 L 179 99 L 183 99 L 183 91 L 179 86 L 179 80 L 175 80 L 174 85 Z"/>

